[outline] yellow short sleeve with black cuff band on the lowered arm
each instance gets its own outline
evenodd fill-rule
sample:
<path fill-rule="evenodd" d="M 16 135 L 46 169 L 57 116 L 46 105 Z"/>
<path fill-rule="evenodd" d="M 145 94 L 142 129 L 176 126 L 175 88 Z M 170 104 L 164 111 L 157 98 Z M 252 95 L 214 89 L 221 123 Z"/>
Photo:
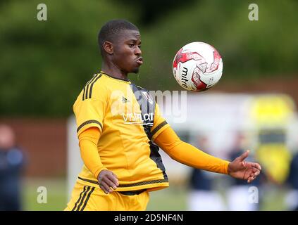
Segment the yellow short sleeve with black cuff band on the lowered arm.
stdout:
<path fill-rule="evenodd" d="M 94 86 L 94 92 L 100 95 L 94 95 L 92 98 L 83 99 L 82 94 L 77 97 L 77 101 L 73 105 L 75 120 L 77 122 L 77 136 L 89 127 L 98 127 L 100 131 L 103 129 L 104 117 L 108 101 L 106 99 L 106 90 L 99 85 Z"/>

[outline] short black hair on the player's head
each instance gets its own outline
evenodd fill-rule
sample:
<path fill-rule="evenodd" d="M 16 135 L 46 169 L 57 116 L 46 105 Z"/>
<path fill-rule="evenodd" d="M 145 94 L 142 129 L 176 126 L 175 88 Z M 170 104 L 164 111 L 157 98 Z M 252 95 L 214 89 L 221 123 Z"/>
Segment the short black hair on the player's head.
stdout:
<path fill-rule="evenodd" d="M 104 56 L 103 44 L 104 41 L 114 41 L 117 39 L 122 30 L 137 30 L 137 26 L 130 23 L 128 20 L 110 20 L 104 26 L 101 27 L 99 31 L 97 41 L 99 43 L 99 49 L 101 51 L 101 56 Z"/>

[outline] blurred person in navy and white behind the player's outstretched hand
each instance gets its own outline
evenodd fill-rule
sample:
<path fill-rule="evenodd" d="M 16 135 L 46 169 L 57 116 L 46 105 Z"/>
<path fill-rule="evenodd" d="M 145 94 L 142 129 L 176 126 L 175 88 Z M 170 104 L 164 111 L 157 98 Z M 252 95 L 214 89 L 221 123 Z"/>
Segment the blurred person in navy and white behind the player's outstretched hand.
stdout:
<path fill-rule="evenodd" d="M 244 148 L 246 146 L 246 139 L 244 134 L 241 134 L 240 132 L 235 135 L 235 144 L 234 148 L 230 151 L 230 160 L 235 159 L 238 157 L 239 154 L 244 153 L 247 148 Z M 254 152 L 251 152 L 249 154 L 249 157 L 247 158 L 247 161 L 255 160 L 254 159 Z M 262 173 L 263 174 L 263 173 Z M 243 180 L 231 180 L 231 186 L 228 189 L 227 192 L 227 203 L 228 203 L 228 210 L 231 211 L 256 211 L 259 210 L 260 205 L 260 184 L 261 180 L 260 178 L 256 178 L 252 183 L 248 184 L 247 181 Z M 258 190 L 258 203 L 251 202 L 250 201 L 250 195 L 252 195 L 252 192 L 249 191 L 251 187 L 256 187 Z"/>

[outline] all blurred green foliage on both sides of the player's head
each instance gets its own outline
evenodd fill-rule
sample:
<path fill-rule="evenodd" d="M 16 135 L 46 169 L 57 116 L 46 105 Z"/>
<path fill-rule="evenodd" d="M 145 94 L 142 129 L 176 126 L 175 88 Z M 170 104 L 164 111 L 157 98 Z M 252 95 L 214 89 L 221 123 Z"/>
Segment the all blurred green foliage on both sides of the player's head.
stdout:
<path fill-rule="evenodd" d="M 40 3 L 1 1 L 0 115 L 70 115 L 82 86 L 100 70 L 97 32 L 113 18 L 126 18 L 141 31 L 144 65 L 139 79 L 130 78 L 148 89 L 180 89 L 172 61 L 192 41 L 205 41 L 221 53 L 221 82 L 297 75 L 294 0 L 254 1 L 259 21 L 248 20 L 249 1 L 181 1 L 181 7 L 150 15 L 150 26 L 138 24 L 144 7 L 139 10 L 132 0 L 46 0 L 47 21 L 36 18 Z M 159 4 L 146 7 L 154 11 Z"/>

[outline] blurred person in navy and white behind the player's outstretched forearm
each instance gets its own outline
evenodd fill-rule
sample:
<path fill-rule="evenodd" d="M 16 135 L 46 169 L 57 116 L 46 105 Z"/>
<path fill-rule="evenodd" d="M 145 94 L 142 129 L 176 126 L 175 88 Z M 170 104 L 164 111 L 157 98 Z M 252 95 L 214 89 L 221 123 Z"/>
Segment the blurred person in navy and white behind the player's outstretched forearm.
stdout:
<path fill-rule="evenodd" d="M 199 136 L 197 148 L 210 149 L 207 136 Z M 214 179 L 216 174 L 201 169 L 192 169 L 190 176 L 190 194 L 188 195 L 188 210 L 191 211 L 221 211 L 225 210 L 223 198 L 216 191 Z"/>

